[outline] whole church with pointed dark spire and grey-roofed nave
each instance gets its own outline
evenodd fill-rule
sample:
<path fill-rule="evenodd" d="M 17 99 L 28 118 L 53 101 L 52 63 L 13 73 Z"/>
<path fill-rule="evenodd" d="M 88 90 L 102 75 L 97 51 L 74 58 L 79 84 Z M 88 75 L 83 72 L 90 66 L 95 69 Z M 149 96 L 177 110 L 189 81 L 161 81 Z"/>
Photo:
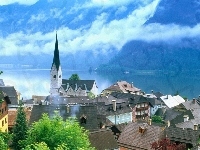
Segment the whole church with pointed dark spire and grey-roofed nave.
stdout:
<path fill-rule="evenodd" d="M 96 96 L 98 94 L 95 80 L 68 80 L 62 78 L 57 33 L 50 78 L 50 96 L 88 96 L 89 93 Z"/>

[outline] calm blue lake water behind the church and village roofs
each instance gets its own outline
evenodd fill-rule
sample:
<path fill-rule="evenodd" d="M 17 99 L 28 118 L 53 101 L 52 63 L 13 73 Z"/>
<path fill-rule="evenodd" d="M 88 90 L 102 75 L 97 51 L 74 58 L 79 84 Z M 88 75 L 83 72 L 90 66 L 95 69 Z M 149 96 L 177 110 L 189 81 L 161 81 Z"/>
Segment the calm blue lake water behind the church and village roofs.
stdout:
<path fill-rule="evenodd" d="M 198 73 L 175 75 L 157 74 L 112 74 L 104 75 L 89 71 L 63 70 L 63 78 L 68 79 L 71 74 L 78 73 L 84 80 L 96 80 L 99 93 L 118 80 L 133 82 L 134 86 L 146 93 L 151 90 L 160 91 L 163 94 L 175 94 L 192 99 L 200 94 L 200 78 Z M 22 94 L 24 99 L 32 95 L 48 95 L 50 87 L 50 69 L 23 69 L 3 70 L 0 75 L 6 85 L 14 85 L 16 90 Z"/>

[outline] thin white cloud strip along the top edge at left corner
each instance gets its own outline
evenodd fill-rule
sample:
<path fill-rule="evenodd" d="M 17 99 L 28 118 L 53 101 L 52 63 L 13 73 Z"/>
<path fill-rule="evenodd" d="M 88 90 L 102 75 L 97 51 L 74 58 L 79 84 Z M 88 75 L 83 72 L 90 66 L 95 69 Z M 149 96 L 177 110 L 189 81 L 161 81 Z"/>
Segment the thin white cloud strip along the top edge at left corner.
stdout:
<path fill-rule="evenodd" d="M 39 0 L 0 0 L 0 5 L 10 5 L 13 3 L 18 3 L 21 5 L 33 5 Z"/>

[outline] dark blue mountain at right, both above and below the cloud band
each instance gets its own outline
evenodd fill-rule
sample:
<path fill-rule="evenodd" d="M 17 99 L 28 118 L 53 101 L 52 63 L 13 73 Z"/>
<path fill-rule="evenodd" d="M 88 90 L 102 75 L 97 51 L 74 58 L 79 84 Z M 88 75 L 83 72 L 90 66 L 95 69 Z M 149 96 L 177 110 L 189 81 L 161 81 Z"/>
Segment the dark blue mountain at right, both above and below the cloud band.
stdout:
<path fill-rule="evenodd" d="M 162 0 L 155 14 L 143 26 L 155 26 L 152 28 L 155 34 L 157 26 L 169 29 L 169 32 L 160 34 L 160 38 L 171 34 L 172 28 L 174 36 L 167 40 L 131 40 L 108 64 L 101 65 L 98 71 L 103 73 L 107 68 L 117 70 L 118 73 L 134 72 L 134 70 L 162 70 L 163 72 L 200 70 L 200 36 L 176 36 L 177 28 L 181 31 L 180 34 L 185 34 L 187 30 L 184 29 L 192 30 L 197 27 L 200 22 L 199 16 L 199 1 Z M 197 31 L 200 33 L 200 30 L 196 30 L 195 33 Z"/>

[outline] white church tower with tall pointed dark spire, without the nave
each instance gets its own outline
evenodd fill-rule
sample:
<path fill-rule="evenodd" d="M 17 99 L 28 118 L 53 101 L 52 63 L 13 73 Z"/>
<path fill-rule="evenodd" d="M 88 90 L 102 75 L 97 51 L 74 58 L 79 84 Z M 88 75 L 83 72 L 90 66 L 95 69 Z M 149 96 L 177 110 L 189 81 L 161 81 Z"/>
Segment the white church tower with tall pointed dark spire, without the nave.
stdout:
<path fill-rule="evenodd" d="M 57 33 L 56 33 L 56 43 L 55 43 L 54 57 L 51 66 L 50 76 L 51 76 L 50 95 L 52 96 L 58 95 L 59 88 L 62 85 L 62 70 L 60 66 Z"/>

